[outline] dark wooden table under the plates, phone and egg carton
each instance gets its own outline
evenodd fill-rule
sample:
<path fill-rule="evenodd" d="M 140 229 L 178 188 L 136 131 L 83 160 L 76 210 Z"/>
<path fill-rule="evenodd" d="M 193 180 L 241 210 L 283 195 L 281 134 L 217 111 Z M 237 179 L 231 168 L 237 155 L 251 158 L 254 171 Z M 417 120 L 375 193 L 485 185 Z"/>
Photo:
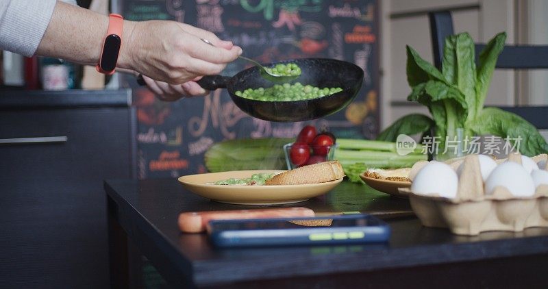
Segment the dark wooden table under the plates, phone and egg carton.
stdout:
<path fill-rule="evenodd" d="M 386 219 L 388 244 L 215 249 L 206 234 L 178 231 L 179 212 L 258 207 L 204 199 L 176 179 L 108 180 L 105 190 L 113 288 L 129 284 L 128 239 L 177 288 L 548 288 L 548 228 L 456 236 L 408 216 Z M 410 209 L 406 199 L 347 181 L 296 205 L 316 212 Z"/>

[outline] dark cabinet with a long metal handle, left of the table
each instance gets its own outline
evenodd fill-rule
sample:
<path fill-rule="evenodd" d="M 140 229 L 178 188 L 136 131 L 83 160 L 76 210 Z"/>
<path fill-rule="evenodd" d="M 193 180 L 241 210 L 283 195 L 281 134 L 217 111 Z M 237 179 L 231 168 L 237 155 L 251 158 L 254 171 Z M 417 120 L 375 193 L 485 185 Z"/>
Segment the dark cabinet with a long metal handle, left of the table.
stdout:
<path fill-rule="evenodd" d="M 131 93 L 0 93 L 0 288 L 108 288 L 103 179 L 135 177 Z"/>

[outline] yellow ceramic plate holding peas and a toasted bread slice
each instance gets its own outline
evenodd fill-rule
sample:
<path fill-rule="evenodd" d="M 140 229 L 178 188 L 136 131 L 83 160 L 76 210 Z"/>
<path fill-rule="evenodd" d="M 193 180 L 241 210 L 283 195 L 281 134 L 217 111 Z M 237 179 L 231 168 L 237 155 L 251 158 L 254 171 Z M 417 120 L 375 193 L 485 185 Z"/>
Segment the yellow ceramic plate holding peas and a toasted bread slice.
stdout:
<path fill-rule="evenodd" d="M 206 184 L 221 179 L 251 177 L 254 173 L 282 173 L 283 171 L 229 171 L 184 175 L 179 177 L 183 186 L 201 197 L 221 203 L 240 205 L 278 205 L 297 203 L 321 196 L 335 188 L 343 178 L 321 184 L 284 185 L 284 186 L 226 186 Z"/>

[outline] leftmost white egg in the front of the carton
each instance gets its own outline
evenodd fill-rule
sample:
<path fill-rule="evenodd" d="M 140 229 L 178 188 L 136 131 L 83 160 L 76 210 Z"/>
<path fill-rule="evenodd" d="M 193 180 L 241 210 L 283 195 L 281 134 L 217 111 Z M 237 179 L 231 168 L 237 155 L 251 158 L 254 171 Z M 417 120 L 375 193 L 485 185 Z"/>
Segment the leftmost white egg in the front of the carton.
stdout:
<path fill-rule="evenodd" d="M 417 194 L 439 194 L 441 197 L 454 198 L 457 195 L 458 176 L 453 168 L 443 162 L 432 161 L 421 168 L 411 184 L 412 192 Z"/>

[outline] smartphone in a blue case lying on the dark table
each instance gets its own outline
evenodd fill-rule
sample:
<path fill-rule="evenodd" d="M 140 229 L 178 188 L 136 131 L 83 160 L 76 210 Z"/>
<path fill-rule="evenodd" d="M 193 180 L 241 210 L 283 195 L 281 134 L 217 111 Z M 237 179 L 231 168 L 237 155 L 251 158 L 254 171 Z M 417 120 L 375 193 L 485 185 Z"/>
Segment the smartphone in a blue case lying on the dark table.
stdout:
<path fill-rule="evenodd" d="M 214 220 L 208 223 L 216 247 L 388 242 L 390 227 L 367 214 L 308 218 Z"/>

